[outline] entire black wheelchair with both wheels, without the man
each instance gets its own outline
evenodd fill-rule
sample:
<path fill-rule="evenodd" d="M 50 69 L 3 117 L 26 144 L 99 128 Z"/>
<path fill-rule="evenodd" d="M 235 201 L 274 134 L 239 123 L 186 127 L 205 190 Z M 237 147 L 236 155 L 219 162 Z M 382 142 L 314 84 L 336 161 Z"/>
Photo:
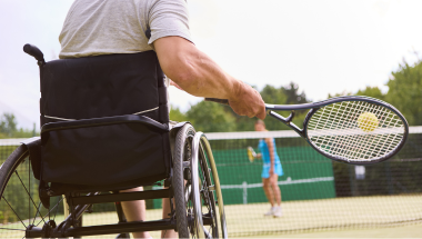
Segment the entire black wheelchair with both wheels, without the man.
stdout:
<path fill-rule="evenodd" d="M 130 238 L 169 229 L 179 238 L 228 237 L 210 143 L 189 122 L 169 123 L 153 51 L 46 62 L 37 47 L 23 50 L 40 68 L 42 127 L 0 167 L 1 238 Z M 18 190 L 26 192 L 20 202 Z M 120 205 L 161 198 L 171 208 L 161 220 L 128 222 Z M 105 202 L 114 202 L 117 223 L 84 226 L 93 205 Z M 63 203 L 69 213 L 59 217 Z M 7 213 L 14 222 L 3 223 Z"/>

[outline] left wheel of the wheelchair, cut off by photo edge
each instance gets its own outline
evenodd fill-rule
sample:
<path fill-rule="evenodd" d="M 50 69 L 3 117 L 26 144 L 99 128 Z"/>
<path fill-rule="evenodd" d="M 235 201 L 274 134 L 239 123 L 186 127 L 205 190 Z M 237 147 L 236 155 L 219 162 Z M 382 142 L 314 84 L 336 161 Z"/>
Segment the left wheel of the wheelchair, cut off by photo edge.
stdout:
<path fill-rule="evenodd" d="M 42 207 L 28 156 L 20 146 L 0 167 L 0 238 L 27 237 L 27 229 L 56 227 L 53 221 L 62 217 L 61 197 L 50 199 L 49 210 Z"/>

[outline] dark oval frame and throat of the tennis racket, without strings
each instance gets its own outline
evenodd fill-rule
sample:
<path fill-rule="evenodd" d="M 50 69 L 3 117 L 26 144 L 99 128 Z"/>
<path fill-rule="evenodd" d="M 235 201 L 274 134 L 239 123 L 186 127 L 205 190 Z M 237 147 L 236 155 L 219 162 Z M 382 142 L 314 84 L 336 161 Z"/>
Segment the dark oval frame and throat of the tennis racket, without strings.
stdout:
<path fill-rule="evenodd" d="M 373 104 L 385 107 L 389 110 L 393 111 L 403 121 L 404 133 L 403 133 L 403 139 L 400 142 L 400 145 L 394 150 L 392 150 L 391 152 L 389 152 L 389 153 L 386 153 L 386 155 L 384 155 L 382 157 L 378 157 L 378 158 L 374 158 L 372 160 L 368 160 L 368 161 L 363 161 L 363 160 L 362 161 L 358 161 L 358 160 L 356 161 L 354 161 L 354 160 L 350 161 L 349 159 L 346 159 L 344 157 L 332 156 L 332 155 L 329 155 L 329 153 L 320 150 L 310 140 L 310 138 L 308 136 L 308 123 L 309 123 L 310 119 L 312 118 L 312 116 L 318 110 L 320 110 L 322 107 L 325 107 L 325 106 L 332 104 L 332 103 L 344 102 L 344 101 L 364 101 L 364 102 L 369 102 L 369 103 L 373 103 Z M 335 97 L 335 98 L 331 98 L 331 99 L 323 100 L 323 101 L 320 101 L 320 102 L 312 102 L 312 103 L 302 103 L 302 104 L 265 104 L 265 109 L 267 109 L 267 114 L 275 118 L 277 120 L 279 120 L 279 121 L 283 122 L 284 125 L 287 125 L 288 127 L 290 127 L 299 136 L 301 136 L 302 138 L 304 138 L 307 140 L 307 142 L 313 149 L 315 149 L 319 153 L 321 153 L 324 157 L 330 158 L 332 160 L 340 161 L 340 162 L 346 162 L 349 165 L 373 165 L 373 163 L 382 162 L 382 161 L 384 161 L 386 159 L 390 159 L 391 157 L 393 157 L 395 153 L 398 153 L 403 148 L 403 146 L 404 146 L 406 139 L 408 139 L 408 135 L 409 135 L 409 125 L 408 125 L 408 121 L 405 120 L 405 118 L 403 117 L 403 114 L 398 109 L 395 109 L 390 103 L 386 103 L 386 102 L 384 102 L 382 100 L 370 98 L 370 97 L 344 96 L 344 97 Z M 305 110 L 305 109 L 310 109 L 310 111 L 308 112 L 307 117 L 304 118 L 303 128 L 301 129 L 297 125 L 294 125 L 292 122 L 292 120 L 294 118 L 294 110 Z M 289 117 L 284 118 L 284 117 L 280 116 L 279 113 L 274 112 L 273 110 L 291 111 L 291 113 L 290 113 Z"/>

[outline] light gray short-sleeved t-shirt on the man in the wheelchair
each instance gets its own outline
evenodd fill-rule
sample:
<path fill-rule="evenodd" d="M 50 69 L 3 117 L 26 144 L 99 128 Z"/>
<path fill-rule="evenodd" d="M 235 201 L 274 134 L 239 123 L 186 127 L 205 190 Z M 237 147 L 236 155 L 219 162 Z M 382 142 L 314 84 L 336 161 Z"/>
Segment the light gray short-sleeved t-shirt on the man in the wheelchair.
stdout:
<path fill-rule="evenodd" d="M 149 51 L 169 36 L 192 41 L 184 0 L 76 0 L 59 37 L 59 58 Z"/>

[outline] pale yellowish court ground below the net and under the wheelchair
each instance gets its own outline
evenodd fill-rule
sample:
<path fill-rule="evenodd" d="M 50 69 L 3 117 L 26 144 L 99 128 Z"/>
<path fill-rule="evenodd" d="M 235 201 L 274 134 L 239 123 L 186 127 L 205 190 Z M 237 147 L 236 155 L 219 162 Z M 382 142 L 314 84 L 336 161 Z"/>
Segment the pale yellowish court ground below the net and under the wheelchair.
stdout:
<path fill-rule="evenodd" d="M 263 213 L 269 209 L 269 203 L 225 206 L 229 236 L 368 238 L 401 237 L 400 233 L 402 237 L 422 235 L 422 195 L 288 201 L 282 203 L 282 208 L 283 217 L 265 218 Z M 147 211 L 148 220 L 160 218 L 161 209 Z M 61 219 L 61 216 L 58 216 L 58 219 Z M 83 216 L 84 226 L 117 223 L 117 221 L 115 212 Z M 151 235 L 153 238 L 160 238 L 159 231 L 153 231 Z M 101 238 L 113 237 L 115 236 L 101 236 Z M 0 238 L 3 238 L 1 231 Z"/>

